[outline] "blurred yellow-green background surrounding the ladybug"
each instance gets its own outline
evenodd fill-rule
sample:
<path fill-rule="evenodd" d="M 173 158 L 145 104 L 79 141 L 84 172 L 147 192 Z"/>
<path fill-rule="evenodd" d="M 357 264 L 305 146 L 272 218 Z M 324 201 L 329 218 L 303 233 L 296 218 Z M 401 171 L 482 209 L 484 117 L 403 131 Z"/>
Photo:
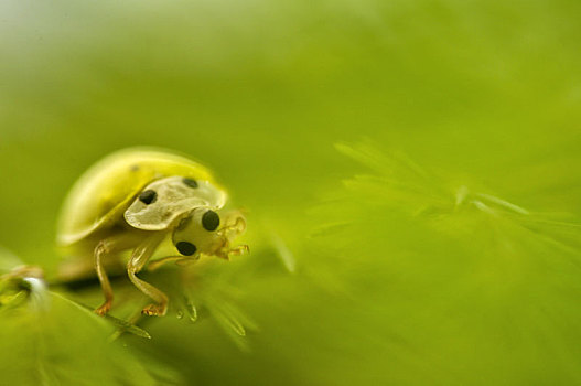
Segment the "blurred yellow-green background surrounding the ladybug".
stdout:
<path fill-rule="evenodd" d="M 219 270 L 258 331 L 244 351 L 148 322 L 125 343 L 161 373 L 579 384 L 580 21 L 574 0 L 1 1 L 0 245 L 53 271 L 80 173 L 175 149 L 249 211 L 252 253 Z M 458 214 L 460 186 L 530 215 Z"/>

